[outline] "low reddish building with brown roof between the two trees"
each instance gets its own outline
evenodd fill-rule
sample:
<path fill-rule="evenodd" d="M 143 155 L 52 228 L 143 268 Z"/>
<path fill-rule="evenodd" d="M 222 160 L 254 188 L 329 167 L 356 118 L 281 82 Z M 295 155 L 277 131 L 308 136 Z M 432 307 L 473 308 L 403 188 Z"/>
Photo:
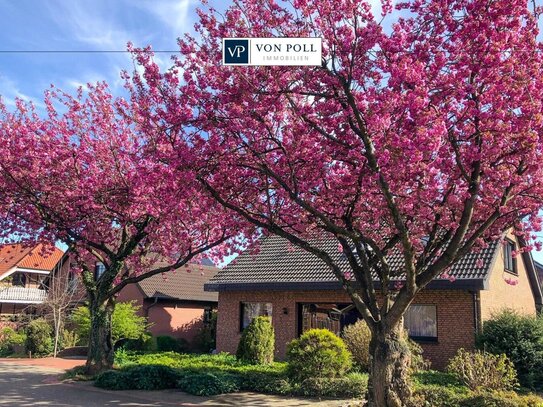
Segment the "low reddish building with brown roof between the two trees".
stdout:
<path fill-rule="evenodd" d="M 117 301 L 136 301 L 147 317 L 153 335 L 169 335 L 191 342 L 217 308 L 217 293 L 205 292 L 204 283 L 219 269 L 188 264 L 156 274 L 121 290 Z"/>

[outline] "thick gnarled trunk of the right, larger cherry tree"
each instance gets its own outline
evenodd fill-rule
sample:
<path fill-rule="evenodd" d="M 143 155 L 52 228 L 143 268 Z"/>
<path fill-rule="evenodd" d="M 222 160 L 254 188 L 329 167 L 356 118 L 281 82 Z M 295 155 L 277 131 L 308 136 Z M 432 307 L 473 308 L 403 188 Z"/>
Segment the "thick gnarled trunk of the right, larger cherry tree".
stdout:
<path fill-rule="evenodd" d="M 403 327 L 372 336 L 368 407 L 406 407 L 411 405 L 409 367 L 411 356 Z"/>

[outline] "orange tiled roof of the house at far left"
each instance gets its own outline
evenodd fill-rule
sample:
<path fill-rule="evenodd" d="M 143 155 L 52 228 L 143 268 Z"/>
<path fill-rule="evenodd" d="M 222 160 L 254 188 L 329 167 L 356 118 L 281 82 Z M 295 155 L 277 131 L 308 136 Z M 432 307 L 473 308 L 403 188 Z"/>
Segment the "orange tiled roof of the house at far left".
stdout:
<path fill-rule="evenodd" d="M 21 243 L 0 246 L 0 278 L 14 267 L 52 271 L 63 254 L 64 252 L 57 247 L 52 251 L 44 249 L 41 243 L 34 246 Z"/>

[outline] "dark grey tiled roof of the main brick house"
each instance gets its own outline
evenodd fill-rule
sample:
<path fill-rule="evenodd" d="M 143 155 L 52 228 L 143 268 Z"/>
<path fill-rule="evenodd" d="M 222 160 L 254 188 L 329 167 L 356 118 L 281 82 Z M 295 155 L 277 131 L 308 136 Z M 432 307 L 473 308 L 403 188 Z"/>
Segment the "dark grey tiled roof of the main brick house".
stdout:
<path fill-rule="evenodd" d="M 333 239 L 314 239 L 315 245 L 325 249 L 344 271 L 350 267 L 346 256 L 338 250 L 338 243 Z M 485 278 L 492 268 L 497 253 L 498 242 L 491 243 L 477 253 L 470 253 L 458 261 L 448 272 L 455 278 L 437 278 L 429 288 L 482 289 Z M 483 261 L 477 267 L 477 260 Z M 392 268 L 400 269 L 402 256 L 392 255 L 389 263 Z M 243 289 L 339 289 L 341 285 L 328 266 L 317 256 L 305 250 L 295 248 L 279 236 L 262 239 L 259 253 L 251 254 L 246 250 L 219 271 L 205 286 L 206 290 L 228 291 Z"/>

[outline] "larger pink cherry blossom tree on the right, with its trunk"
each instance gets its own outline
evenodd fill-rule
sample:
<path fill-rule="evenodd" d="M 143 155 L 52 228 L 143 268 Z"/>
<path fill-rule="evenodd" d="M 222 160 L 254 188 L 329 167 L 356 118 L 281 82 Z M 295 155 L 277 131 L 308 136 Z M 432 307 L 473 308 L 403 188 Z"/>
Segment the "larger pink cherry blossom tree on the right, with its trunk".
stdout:
<path fill-rule="evenodd" d="M 148 125 L 190 123 L 181 140 L 221 205 L 334 272 L 372 332 L 375 406 L 409 404 L 401 321 L 417 293 L 511 227 L 532 241 L 543 192 L 540 10 L 526 0 L 395 8 L 208 7 L 168 72 L 136 50 L 145 73 L 131 88 Z M 322 37 L 322 65 L 223 66 L 225 37 Z M 349 273 L 321 238 L 336 239 Z"/>

